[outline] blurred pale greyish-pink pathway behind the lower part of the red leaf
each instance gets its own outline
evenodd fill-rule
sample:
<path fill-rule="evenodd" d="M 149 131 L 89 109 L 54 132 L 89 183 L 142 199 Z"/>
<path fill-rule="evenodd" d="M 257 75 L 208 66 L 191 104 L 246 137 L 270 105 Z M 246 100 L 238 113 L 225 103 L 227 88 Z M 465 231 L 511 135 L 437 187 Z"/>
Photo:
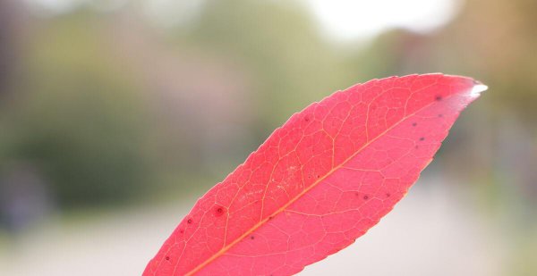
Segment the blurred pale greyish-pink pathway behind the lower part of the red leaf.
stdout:
<path fill-rule="evenodd" d="M 498 235 L 469 200 L 430 180 L 416 186 L 353 246 L 301 275 L 500 275 Z M 0 275 L 140 275 L 193 200 L 51 222 L 0 247 Z"/>

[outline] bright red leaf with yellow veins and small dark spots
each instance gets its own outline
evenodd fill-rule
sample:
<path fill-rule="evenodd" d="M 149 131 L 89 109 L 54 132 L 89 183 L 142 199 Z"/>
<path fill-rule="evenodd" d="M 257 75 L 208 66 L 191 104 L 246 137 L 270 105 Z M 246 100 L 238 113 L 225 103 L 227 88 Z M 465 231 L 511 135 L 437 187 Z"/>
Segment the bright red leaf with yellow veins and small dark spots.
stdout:
<path fill-rule="evenodd" d="M 349 246 L 484 89 L 442 74 L 373 79 L 295 113 L 198 200 L 144 275 L 288 275 Z"/>

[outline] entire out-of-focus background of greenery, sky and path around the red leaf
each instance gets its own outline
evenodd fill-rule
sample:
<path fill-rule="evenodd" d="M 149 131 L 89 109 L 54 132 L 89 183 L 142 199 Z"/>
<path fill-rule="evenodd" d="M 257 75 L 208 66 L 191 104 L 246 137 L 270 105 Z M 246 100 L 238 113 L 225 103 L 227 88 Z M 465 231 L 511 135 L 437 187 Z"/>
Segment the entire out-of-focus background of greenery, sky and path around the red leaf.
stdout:
<path fill-rule="evenodd" d="M 137 275 L 292 113 L 368 79 L 489 91 L 303 275 L 537 275 L 537 2 L 0 1 L 0 274 Z"/>

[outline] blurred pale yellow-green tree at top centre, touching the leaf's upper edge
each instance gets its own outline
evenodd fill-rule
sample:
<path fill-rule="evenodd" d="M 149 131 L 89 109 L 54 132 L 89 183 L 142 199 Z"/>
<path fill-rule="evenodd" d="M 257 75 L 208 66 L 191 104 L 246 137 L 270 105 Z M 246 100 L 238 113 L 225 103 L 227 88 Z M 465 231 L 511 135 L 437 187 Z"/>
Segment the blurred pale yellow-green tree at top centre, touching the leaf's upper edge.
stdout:
<path fill-rule="evenodd" d="M 332 47 L 300 5 L 208 1 L 192 27 L 201 48 L 231 55 L 251 71 L 260 137 L 347 80 Z M 354 76 L 356 79 L 356 76 Z M 343 80 L 343 81 L 342 81 Z"/>

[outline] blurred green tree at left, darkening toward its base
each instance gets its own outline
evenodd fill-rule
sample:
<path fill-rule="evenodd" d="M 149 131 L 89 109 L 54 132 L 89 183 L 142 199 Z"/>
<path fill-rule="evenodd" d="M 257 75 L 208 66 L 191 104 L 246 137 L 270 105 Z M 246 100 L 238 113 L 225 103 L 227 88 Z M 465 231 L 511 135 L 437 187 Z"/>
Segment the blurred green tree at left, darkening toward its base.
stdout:
<path fill-rule="evenodd" d="M 37 166 L 60 205 L 122 201 L 152 174 L 143 98 L 98 26 L 84 13 L 40 21 L 4 118 L 3 163 Z"/>

